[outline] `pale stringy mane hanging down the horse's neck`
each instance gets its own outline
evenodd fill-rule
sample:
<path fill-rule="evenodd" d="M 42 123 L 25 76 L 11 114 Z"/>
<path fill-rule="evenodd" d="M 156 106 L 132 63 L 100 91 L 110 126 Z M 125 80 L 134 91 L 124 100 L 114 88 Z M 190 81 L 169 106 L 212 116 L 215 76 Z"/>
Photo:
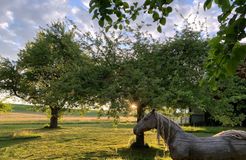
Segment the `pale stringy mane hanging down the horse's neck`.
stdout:
<path fill-rule="evenodd" d="M 182 130 L 181 127 L 175 123 L 174 121 L 170 120 L 169 118 L 155 112 L 155 117 L 156 117 L 156 120 L 157 120 L 157 139 L 158 139 L 158 142 L 160 142 L 160 136 L 163 137 L 163 139 L 166 141 L 166 143 L 168 143 L 168 140 L 170 138 L 170 130 L 171 130 L 171 127 L 172 128 L 175 128 L 176 130 Z M 164 132 L 164 129 L 165 126 L 165 121 L 168 121 L 168 133 L 167 133 L 167 136 L 165 136 L 165 132 Z"/>

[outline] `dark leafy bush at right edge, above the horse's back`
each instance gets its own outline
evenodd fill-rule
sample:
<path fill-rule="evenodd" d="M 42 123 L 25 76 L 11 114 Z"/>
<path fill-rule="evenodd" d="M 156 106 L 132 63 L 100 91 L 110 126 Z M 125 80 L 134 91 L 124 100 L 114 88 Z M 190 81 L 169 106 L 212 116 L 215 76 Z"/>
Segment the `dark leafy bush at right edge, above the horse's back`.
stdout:
<path fill-rule="evenodd" d="M 242 125 L 246 118 L 245 84 L 245 80 L 237 76 L 220 82 L 218 90 L 209 91 L 213 99 L 205 109 L 224 126 Z"/>

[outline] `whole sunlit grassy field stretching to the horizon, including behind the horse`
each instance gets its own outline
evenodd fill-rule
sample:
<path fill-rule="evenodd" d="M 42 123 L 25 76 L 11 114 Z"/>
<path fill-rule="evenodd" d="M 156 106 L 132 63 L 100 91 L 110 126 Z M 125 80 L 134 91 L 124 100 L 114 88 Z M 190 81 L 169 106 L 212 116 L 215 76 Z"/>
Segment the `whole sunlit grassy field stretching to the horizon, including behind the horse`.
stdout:
<path fill-rule="evenodd" d="M 19 110 L 18 110 L 19 109 Z M 132 119 L 118 126 L 112 120 L 64 116 L 60 129 L 45 129 L 48 119 L 41 113 L 14 108 L 0 115 L 0 159 L 170 159 L 164 157 L 164 146 L 158 145 L 155 131 L 146 132 L 149 149 L 130 149 L 134 141 Z M 197 136 L 209 136 L 228 128 L 184 127 Z"/>

